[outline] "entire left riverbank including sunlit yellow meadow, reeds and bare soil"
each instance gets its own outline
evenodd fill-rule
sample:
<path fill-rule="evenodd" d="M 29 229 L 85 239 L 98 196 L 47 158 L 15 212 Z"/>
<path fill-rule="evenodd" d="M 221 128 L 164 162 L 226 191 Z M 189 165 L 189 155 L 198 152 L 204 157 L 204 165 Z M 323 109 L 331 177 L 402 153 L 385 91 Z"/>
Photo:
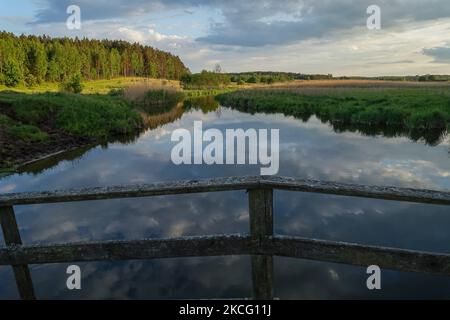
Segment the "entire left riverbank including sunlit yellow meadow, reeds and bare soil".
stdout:
<path fill-rule="evenodd" d="M 178 81 L 148 78 L 89 81 L 81 94 L 58 90 L 44 83 L 0 91 L 0 174 L 53 154 L 135 136 L 147 126 L 144 113 L 166 110 L 184 97 Z"/>

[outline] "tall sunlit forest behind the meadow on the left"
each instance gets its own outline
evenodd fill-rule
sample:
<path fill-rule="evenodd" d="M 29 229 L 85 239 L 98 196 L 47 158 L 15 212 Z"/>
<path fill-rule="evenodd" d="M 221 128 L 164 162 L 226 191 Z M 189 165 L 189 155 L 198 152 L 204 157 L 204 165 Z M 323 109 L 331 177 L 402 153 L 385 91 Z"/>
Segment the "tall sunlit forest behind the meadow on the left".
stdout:
<path fill-rule="evenodd" d="M 178 56 L 126 41 L 15 36 L 0 32 L 0 84 L 33 86 L 119 76 L 180 79 L 189 73 Z"/>

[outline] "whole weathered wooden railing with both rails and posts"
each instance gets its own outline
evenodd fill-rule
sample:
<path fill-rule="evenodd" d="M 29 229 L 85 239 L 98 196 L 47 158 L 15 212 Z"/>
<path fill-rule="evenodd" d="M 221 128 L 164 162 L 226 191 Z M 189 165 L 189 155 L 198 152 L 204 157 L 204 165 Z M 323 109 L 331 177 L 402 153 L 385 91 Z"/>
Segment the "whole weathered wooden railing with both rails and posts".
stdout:
<path fill-rule="evenodd" d="M 23 299 L 34 299 L 29 264 L 102 260 L 250 255 L 253 297 L 273 298 L 273 256 L 450 276 L 450 254 L 368 246 L 273 234 L 273 190 L 450 205 L 450 192 L 364 186 L 285 177 L 231 177 L 133 186 L 83 188 L 0 195 L 6 247 L 0 265 L 11 265 Z M 250 234 L 23 245 L 13 206 L 247 190 Z"/>

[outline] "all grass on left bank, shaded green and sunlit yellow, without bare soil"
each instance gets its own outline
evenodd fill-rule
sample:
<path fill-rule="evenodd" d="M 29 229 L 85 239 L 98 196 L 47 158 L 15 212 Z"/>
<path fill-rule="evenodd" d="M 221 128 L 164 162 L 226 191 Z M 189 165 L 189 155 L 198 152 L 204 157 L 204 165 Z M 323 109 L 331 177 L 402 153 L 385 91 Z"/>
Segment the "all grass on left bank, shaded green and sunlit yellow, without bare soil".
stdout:
<path fill-rule="evenodd" d="M 139 113 L 122 98 L 127 86 L 162 80 L 118 78 L 84 82 L 83 94 L 60 93 L 56 83 L 43 83 L 34 88 L 14 89 L 0 86 L 0 103 L 9 106 L 14 119 L 2 114 L 0 126 L 12 138 L 24 142 L 48 139 L 49 127 L 69 134 L 107 138 L 129 134 L 142 126 Z M 176 84 L 173 84 L 176 85 Z"/>

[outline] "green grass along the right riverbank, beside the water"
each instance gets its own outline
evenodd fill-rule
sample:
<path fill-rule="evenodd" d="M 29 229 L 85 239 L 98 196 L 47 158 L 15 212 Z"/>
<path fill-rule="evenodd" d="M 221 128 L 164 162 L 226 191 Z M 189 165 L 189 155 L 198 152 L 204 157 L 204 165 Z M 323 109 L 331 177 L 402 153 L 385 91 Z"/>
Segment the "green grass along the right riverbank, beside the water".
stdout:
<path fill-rule="evenodd" d="M 218 95 L 222 105 L 302 119 L 406 129 L 450 129 L 450 92 L 442 88 L 243 90 Z"/>

